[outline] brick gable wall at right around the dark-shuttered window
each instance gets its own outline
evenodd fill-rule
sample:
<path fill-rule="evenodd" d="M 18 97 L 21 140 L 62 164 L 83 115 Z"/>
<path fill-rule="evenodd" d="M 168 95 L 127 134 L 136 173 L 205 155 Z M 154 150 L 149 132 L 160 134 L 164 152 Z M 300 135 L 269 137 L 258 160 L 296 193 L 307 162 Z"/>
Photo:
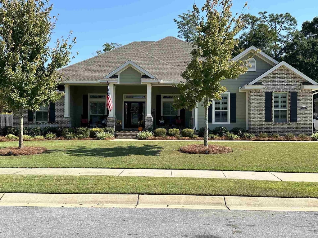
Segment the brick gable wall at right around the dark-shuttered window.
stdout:
<path fill-rule="evenodd" d="M 266 132 L 268 134 L 286 133 L 307 134 L 312 133 L 312 92 L 308 89 L 301 89 L 301 82 L 307 82 L 294 72 L 281 66 L 268 74 L 259 82 L 263 83 L 263 89 L 252 89 L 248 91 L 248 127 L 254 134 Z M 287 92 L 288 93 L 288 119 L 287 122 L 265 122 L 265 92 Z M 290 92 L 297 91 L 297 122 L 290 122 Z M 301 110 L 306 106 L 307 110 Z M 273 110 L 273 97 L 272 97 Z"/>

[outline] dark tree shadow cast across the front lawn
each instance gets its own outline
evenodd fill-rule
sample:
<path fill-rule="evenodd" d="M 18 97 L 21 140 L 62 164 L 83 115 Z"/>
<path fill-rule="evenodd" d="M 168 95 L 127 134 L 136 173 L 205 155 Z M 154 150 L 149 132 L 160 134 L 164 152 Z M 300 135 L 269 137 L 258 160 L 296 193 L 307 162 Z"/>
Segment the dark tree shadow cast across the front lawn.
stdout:
<path fill-rule="evenodd" d="M 142 147 L 129 145 L 129 146 L 117 146 L 113 148 L 86 148 L 85 146 L 78 146 L 72 149 L 49 150 L 52 152 L 64 152 L 70 156 L 94 156 L 94 157 L 118 157 L 128 155 L 144 155 L 144 156 L 156 156 L 159 155 L 163 147 L 155 145 L 144 145 Z"/>

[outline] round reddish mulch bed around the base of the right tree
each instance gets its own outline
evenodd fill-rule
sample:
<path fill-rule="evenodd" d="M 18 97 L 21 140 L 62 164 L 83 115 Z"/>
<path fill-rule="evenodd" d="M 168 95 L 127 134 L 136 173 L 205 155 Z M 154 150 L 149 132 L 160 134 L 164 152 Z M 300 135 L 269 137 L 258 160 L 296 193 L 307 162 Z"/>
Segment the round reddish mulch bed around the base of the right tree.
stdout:
<path fill-rule="evenodd" d="M 182 153 L 187 154 L 225 154 L 232 152 L 232 148 L 221 145 L 186 145 L 179 149 Z"/>

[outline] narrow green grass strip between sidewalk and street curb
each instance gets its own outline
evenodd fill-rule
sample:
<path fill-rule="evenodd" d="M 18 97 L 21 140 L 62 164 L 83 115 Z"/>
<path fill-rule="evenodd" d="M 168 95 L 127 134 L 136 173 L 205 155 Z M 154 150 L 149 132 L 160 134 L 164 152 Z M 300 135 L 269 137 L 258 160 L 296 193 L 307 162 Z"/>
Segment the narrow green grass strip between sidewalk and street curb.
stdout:
<path fill-rule="evenodd" d="M 318 198 L 318 182 L 82 175 L 0 175 L 0 192 Z"/>

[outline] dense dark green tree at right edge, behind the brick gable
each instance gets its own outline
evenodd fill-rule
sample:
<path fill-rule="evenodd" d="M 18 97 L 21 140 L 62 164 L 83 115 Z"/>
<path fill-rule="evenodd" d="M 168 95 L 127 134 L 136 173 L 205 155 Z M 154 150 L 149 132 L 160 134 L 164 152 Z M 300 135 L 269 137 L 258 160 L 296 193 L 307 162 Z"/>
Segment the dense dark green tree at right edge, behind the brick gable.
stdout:
<path fill-rule="evenodd" d="M 304 22 L 286 44 L 284 61 L 318 82 L 318 17 Z"/>

